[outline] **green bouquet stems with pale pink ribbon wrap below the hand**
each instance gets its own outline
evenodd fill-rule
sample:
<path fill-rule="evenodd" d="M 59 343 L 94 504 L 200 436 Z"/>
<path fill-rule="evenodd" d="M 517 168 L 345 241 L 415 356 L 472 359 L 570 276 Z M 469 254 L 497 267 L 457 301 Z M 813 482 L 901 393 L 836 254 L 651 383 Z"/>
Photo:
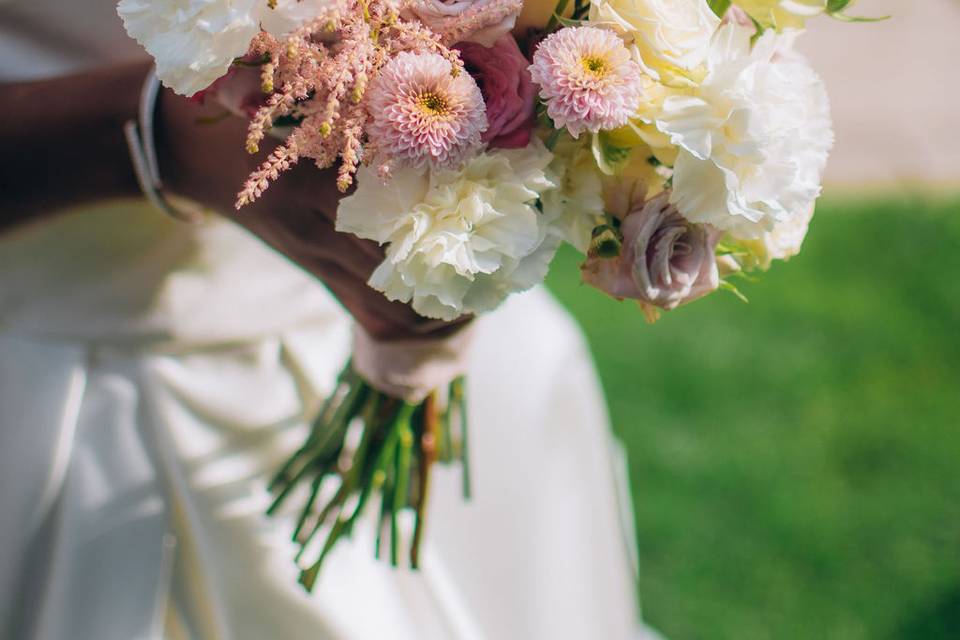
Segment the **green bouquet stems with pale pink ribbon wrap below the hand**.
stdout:
<path fill-rule="evenodd" d="M 463 465 L 470 497 L 464 372 L 472 330 L 442 338 L 378 341 L 357 328 L 354 353 L 313 422 L 307 441 L 270 483 L 268 510 L 302 496 L 293 540 L 300 551 L 300 582 L 312 590 L 323 561 L 350 536 L 371 503 L 379 501 L 374 554 L 400 564 L 398 515 L 414 513 L 409 565 L 419 568 L 431 468 Z"/>

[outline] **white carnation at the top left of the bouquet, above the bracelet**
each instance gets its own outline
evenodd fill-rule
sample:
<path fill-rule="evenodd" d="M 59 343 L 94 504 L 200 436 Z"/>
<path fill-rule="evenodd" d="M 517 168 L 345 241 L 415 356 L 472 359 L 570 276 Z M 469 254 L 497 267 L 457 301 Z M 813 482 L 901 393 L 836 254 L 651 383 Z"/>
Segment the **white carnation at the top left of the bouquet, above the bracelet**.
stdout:
<path fill-rule="evenodd" d="M 223 76 L 261 28 L 274 35 L 317 15 L 321 0 L 120 0 L 124 27 L 157 64 L 165 85 L 193 95 Z"/>

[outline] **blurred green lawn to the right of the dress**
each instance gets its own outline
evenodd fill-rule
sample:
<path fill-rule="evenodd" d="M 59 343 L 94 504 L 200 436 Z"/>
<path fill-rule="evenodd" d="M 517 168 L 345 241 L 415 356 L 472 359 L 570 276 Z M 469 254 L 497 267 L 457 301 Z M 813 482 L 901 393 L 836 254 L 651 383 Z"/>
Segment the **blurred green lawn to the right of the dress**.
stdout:
<path fill-rule="evenodd" d="M 826 199 L 804 252 L 645 324 L 548 284 L 629 452 L 671 640 L 960 638 L 960 199 Z"/>

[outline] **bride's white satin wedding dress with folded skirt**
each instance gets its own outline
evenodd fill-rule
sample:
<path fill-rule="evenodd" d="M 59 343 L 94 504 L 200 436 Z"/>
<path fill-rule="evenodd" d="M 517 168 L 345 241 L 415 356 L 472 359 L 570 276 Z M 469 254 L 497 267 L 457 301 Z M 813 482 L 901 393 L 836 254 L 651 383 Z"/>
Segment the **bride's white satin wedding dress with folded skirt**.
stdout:
<path fill-rule="evenodd" d="M 113 0 L 0 0 L 0 78 L 137 55 Z M 360 527 L 308 595 L 265 479 L 346 357 L 336 302 L 228 221 L 139 201 L 0 236 L 0 637 L 641 637 L 580 333 L 543 290 L 478 325 L 474 499 L 441 471 L 422 571 Z"/>

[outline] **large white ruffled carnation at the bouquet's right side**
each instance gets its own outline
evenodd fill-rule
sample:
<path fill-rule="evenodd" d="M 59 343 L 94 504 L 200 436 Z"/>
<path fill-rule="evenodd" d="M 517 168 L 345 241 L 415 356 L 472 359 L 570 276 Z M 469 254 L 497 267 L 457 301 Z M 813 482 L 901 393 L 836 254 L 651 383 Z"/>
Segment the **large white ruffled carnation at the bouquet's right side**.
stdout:
<path fill-rule="evenodd" d="M 833 144 L 822 81 L 772 32 L 721 27 L 709 72 L 692 95 L 671 96 L 657 127 L 680 147 L 673 196 L 693 222 L 742 238 L 803 215 L 820 194 Z"/>

